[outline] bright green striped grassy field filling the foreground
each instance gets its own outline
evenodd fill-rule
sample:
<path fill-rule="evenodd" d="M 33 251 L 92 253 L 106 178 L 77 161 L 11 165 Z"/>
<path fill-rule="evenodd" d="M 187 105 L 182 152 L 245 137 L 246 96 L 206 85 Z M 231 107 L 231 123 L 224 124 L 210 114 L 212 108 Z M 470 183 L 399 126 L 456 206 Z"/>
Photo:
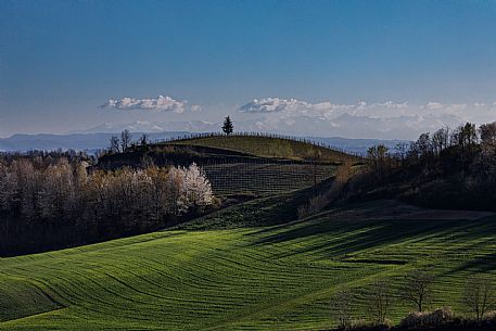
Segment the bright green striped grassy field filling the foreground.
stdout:
<path fill-rule="evenodd" d="M 384 202 L 3 258 L 0 329 L 322 330 L 338 289 L 355 289 L 358 317 L 374 280 L 399 289 L 424 267 L 437 276 L 432 306 L 459 310 L 467 277 L 495 273 L 496 218 L 481 216 Z M 396 301 L 393 319 L 410 308 Z"/>

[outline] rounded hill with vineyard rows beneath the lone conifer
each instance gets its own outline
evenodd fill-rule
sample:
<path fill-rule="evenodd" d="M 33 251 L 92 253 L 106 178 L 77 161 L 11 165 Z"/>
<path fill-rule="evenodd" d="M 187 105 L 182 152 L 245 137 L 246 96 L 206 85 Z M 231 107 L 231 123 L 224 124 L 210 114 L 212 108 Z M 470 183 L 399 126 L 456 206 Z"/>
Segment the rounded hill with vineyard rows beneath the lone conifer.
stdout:
<path fill-rule="evenodd" d="M 206 173 L 218 196 L 268 196 L 296 191 L 334 176 L 336 167 L 358 157 L 309 142 L 262 136 L 209 136 L 143 147 L 109 154 L 99 166 L 136 166 L 143 155 L 156 165 L 195 162 Z"/>

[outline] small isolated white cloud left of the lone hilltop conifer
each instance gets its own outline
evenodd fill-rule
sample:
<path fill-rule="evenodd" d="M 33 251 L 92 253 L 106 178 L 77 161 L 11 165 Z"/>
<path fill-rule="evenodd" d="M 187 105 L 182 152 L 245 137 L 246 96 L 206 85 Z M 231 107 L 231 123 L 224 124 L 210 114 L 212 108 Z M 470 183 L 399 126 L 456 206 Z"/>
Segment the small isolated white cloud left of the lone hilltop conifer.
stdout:
<path fill-rule="evenodd" d="M 123 98 L 120 100 L 110 99 L 100 107 L 106 110 L 141 110 L 156 112 L 175 112 L 182 113 L 186 110 L 188 101 L 178 101 L 171 97 L 158 96 L 152 99 Z"/>

